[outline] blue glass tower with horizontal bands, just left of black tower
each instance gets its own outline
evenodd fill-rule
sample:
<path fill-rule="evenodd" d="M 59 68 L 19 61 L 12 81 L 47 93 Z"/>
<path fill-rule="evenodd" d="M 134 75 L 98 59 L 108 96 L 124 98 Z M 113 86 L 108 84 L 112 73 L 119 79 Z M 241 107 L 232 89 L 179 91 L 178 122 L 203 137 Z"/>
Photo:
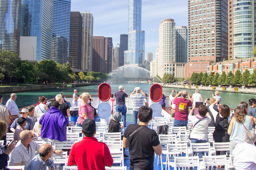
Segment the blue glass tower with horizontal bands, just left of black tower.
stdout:
<path fill-rule="evenodd" d="M 54 0 L 52 27 L 52 60 L 68 62 L 71 0 Z"/>

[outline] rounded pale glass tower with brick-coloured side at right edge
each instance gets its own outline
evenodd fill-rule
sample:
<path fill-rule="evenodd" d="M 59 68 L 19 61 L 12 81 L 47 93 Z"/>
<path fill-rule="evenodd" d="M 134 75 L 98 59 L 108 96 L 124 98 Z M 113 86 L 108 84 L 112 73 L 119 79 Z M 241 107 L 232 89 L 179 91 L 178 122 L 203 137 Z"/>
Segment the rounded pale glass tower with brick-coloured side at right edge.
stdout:
<path fill-rule="evenodd" d="M 229 1 L 229 59 L 254 57 L 255 6 L 252 0 Z"/>

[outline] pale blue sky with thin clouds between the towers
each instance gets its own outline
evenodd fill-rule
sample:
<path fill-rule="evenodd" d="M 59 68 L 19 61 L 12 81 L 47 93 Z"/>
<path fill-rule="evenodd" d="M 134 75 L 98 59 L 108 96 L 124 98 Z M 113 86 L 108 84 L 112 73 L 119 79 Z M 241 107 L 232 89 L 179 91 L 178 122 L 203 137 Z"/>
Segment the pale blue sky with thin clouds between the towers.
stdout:
<path fill-rule="evenodd" d="M 128 34 L 128 0 L 72 0 L 71 11 L 90 11 L 94 20 L 93 36 L 112 37 L 114 47 L 120 42 L 120 34 Z M 145 59 L 147 52 L 153 52 L 155 59 L 160 23 L 174 19 L 176 27 L 188 26 L 188 1 L 142 0 L 141 15 Z"/>

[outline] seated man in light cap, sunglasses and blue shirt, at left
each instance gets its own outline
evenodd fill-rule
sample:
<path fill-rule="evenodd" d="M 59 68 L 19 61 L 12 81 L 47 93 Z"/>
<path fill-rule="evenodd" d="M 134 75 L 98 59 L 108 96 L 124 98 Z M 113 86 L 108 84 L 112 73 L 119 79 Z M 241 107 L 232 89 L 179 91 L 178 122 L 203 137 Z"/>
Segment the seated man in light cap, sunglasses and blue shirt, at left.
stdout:
<path fill-rule="evenodd" d="M 28 118 L 28 115 L 30 115 L 30 114 L 28 113 L 28 110 L 27 110 L 27 109 L 22 109 L 22 110 L 19 112 L 19 114 L 21 114 L 21 117 L 23 117 L 23 118 L 25 118 L 25 119 L 27 120 L 27 123 L 26 123 L 25 128 L 26 128 L 27 130 L 32 131 L 33 128 L 34 128 L 34 124 L 33 124 L 33 121 Z M 19 119 L 19 118 L 15 119 L 15 120 L 13 121 L 11 127 L 10 127 L 10 128 L 11 128 L 10 130 L 13 131 L 13 132 L 14 132 L 15 129 L 19 126 L 19 124 L 17 123 L 18 119 Z"/>

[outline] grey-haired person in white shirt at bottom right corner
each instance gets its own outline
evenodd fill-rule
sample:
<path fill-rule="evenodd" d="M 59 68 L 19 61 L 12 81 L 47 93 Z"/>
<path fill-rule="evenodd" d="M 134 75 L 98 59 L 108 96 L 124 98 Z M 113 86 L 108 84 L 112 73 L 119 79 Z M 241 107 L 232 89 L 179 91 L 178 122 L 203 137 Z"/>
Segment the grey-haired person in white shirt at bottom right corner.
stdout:
<path fill-rule="evenodd" d="M 245 131 L 244 143 L 239 143 L 233 150 L 233 165 L 236 170 L 256 169 L 256 147 L 253 144 L 256 141 L 255 132 Z"/>

